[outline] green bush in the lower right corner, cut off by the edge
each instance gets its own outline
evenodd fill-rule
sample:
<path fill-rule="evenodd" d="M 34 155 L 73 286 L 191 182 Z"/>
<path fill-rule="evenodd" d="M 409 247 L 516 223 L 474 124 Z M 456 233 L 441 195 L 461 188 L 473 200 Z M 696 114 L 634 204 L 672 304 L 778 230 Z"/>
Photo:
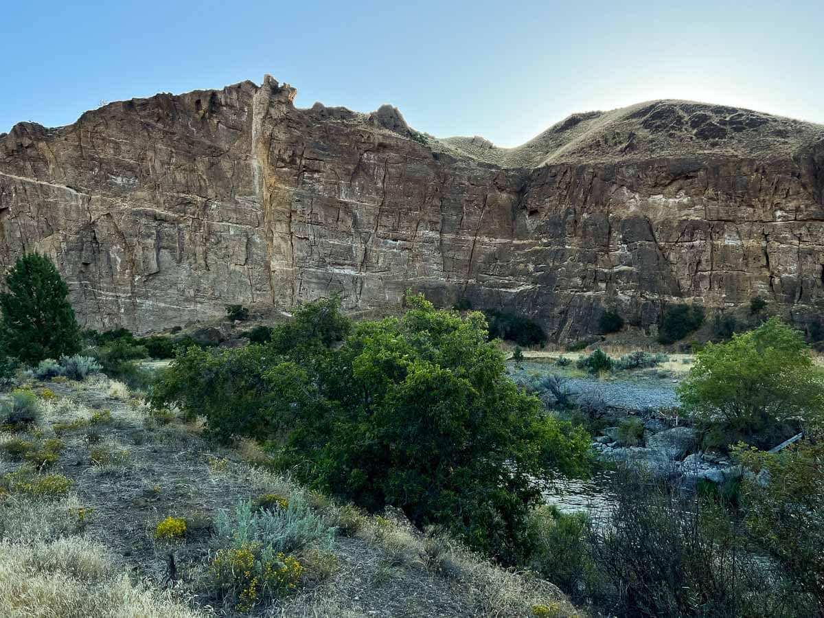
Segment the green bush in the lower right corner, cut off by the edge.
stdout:
<path fill-rule="evenodd" d="M 810 616 L 824 615 L 822 438 L 813 433 L 776 455 L 743 445 L 735 452 L 737 461 L 758 475 L 742 486 L 747 530 L 780 564 Z"/>

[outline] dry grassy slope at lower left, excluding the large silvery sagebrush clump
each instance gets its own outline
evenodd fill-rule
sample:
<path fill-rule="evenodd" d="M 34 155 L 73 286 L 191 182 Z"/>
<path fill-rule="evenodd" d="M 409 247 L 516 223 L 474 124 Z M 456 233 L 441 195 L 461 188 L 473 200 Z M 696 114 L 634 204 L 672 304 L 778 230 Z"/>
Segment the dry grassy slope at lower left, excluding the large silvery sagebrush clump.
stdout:
<path fill-rule="evenodd" d="M 0 616 L 578 615 L 551 583 L 489 564 L 440 531 L 417 531 L 400 513 L 371 517 L 307 491 L 268 471 L 253 442 L 216 447 L 197 424 L 150 414 L 122 384 L 28 386 L 54 396 L 41 397 L 38 426 L 0 433 Z M 55 432 L 63 450 L 48 470 L 23 467 L 3 446 Z M 8 481 L 23 473 L 30 483 L 61 475 L 70 489 L 35 498 Z M 307 504 L 306 517 L 334 535 L 294 550 L 296 589 L 241 612 L 209 578 L 216 522 L 262 495 L 275 497 L 272 508 Z M 157 538 L 170 516 L 185 520 L 185 533 Z"/>

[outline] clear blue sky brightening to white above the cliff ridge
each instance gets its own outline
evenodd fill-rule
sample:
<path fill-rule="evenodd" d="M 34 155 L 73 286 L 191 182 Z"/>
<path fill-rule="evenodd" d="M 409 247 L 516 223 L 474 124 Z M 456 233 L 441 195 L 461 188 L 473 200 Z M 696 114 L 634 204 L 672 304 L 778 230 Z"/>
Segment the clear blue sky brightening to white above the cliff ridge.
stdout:
<path fill-rule="evenodd" d="M 0 25 L 0 132 L 265 73 L 302 107 L 391 103 L 501 146 L 658 98 L 824 124 L 824 0 L 0 0 Z"/>

